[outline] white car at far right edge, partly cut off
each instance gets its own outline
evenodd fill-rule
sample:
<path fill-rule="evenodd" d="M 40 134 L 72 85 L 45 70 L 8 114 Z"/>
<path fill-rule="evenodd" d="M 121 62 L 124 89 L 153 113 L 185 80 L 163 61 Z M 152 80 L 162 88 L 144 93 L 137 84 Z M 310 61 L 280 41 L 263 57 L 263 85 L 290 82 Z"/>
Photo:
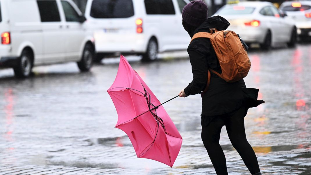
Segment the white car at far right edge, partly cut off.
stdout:
<path fill-rule="evenodd" d="M 286 1 L 280 9 L 293 20 L 301 39 L 311 37 L 311 1 Z"/>

